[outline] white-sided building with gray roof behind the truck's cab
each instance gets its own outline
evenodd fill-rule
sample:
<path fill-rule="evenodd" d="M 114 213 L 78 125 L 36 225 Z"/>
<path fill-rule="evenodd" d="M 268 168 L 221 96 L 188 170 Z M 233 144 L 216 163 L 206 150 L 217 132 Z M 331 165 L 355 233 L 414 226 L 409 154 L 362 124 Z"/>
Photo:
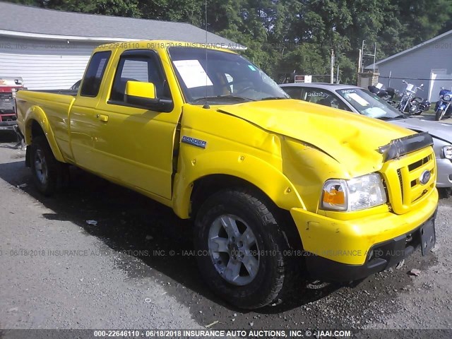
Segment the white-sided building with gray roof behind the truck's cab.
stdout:
<path fill-rule="evenodd" d="M 188 23 L 69 13 L 0 2 L 0 77 L 21 76 L 32 90 L 70 88 L 99 44 L 124 40 L 206 42 Z M 208 32 L 208 44 L 245 47 Z"/>

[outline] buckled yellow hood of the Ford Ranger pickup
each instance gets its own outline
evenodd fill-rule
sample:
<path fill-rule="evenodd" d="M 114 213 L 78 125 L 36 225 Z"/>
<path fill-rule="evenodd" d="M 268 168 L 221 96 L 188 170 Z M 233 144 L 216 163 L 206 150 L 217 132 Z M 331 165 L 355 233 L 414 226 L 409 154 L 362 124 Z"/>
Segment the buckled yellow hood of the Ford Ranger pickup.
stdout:
<path fill-rule="evenodd" d="M 381 169 L 379 148 L 415 132 L 377 119 L 301 100 L 264 100 L 217 107 L 262 129 L 319 148 L 355 177 Z"/>

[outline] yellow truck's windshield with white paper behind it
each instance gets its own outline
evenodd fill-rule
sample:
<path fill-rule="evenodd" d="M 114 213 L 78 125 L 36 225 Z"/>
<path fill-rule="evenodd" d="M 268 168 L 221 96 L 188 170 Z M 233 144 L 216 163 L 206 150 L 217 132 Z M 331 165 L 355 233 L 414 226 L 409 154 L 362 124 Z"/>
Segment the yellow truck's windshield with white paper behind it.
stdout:
<path fill-rule="evenodd" d="M 171 47 L 169 56 L 186 102 L 225 105 L 289 97 L 266 73 L 238 54 Z"/>

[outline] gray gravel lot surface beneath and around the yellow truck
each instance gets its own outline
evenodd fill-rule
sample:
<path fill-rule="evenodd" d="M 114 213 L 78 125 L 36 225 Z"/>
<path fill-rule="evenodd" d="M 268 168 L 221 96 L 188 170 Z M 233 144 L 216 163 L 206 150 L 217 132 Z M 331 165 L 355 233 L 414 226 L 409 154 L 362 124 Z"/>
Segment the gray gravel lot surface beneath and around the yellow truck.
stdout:
<path fill-rule="evenodd" d="M 191 222 L 79 169 L 44 198 L 14 137 L 0 139 L 0 328 L 452 328 L 452 198 L 429 256 L 355 287 L 300 283 L 288 304 L 242 311 L 201 281 Z"/>

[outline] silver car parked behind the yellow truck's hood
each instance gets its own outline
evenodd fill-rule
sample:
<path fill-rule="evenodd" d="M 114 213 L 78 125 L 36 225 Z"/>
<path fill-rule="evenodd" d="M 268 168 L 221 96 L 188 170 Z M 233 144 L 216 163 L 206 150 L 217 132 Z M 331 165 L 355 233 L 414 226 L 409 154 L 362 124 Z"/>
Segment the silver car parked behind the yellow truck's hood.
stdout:
<path fill-rule="evenodd" d="M 290 97 L 344 109 L 388 121 L 417 132 L 428 132 L 434 141 L 438 177 L 436 187 L 452 187 L 452 125 L 409 117 L 369 90 L 352 85 L 329 83 L 285 83 L 280 85 Z M 371 136 L 369 136 L 371 137 Z"/>

